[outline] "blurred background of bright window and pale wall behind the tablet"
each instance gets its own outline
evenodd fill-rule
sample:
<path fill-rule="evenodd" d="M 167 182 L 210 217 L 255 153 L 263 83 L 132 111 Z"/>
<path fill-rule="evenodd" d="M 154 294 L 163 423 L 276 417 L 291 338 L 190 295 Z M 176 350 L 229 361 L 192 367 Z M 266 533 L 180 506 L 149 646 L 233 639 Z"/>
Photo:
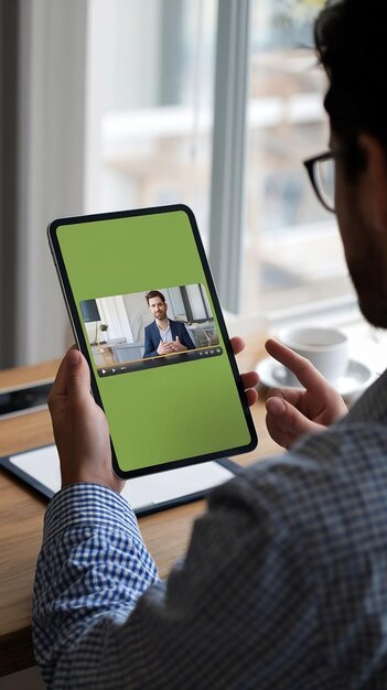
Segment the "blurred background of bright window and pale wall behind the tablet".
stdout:
<path fill-rule="evenodd" d="M 84 213 L 191 206 L 234 330 L 359 319 L 302 166 L 327 147 L 322 4 L 1 0 L 0 368 L 72 343 L 45 230 Z"/>

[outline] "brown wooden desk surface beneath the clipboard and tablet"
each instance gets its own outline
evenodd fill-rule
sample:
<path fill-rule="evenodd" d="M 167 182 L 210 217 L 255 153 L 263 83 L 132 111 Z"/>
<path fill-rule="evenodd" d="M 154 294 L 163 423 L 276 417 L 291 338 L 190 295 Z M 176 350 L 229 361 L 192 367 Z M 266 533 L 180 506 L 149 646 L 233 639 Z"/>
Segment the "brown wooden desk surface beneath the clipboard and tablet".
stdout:
<path fill-rule="evenodd" d="M 54 377 L 56 368 L 57 362 L 49 362 L 0 371 L 0 389 Z M 252 414 L 259 448 L 238 457 L 241 464 L 279 450 L 266 431 L 261 402 L 255 406 Z M 0 456 L 52 442 L 47 410 L 0 420 Z M 45 507 L 44 499 L 0 471 L 0 676 L 35 665 L 31 599 Z M 201 500 L 140 519 L 141 532 L 161 576 L 184 553 L 192 522 L 204 509 L 205 502 Z"/>

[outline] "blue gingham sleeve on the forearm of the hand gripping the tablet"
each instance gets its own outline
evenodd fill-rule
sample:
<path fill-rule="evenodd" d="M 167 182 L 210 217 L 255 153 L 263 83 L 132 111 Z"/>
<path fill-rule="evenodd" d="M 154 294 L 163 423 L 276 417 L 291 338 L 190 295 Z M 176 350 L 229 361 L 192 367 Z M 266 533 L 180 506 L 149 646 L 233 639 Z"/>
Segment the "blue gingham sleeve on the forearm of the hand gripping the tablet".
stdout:
<path fill-rule="evenodd" d="M 35 657 L 49 687 L 80 687 L 72 684 L 77 671 L 74 679 L 69 671 L 68 684 L 63 681 L 63 660 L 74 650 L 78 660 L 80 640 L 90 639 L 97 651 L 158 580 L 125 498 L 96 484 L 73 484 L 56 494 L 45 515 L 33 597 Z M 90 664 L 94 657 L 93 651 Z"/>

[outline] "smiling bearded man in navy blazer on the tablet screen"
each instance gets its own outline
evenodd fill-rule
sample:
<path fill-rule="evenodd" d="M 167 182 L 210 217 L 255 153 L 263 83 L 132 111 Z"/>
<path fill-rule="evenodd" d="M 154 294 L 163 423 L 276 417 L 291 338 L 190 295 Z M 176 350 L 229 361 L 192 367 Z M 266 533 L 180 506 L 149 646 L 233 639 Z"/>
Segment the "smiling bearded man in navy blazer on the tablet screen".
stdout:
<path fill-rule="evenodd" d="M 184 324 L 168 319 L 168 304 L 162 292 L 151 290 L 146 300 L 154 321 L 146 326 L 143 358 L 195 349 Z"/>

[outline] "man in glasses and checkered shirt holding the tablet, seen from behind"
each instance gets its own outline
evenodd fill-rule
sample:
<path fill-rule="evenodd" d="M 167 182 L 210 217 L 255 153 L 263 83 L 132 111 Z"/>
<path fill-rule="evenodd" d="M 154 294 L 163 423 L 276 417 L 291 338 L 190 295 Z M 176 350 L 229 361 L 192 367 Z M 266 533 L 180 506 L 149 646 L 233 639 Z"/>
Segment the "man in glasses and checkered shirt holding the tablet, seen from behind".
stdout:
<path fill-rule="evenodd" d="M 331 136 L 309 161 L 314 188 L 336 213 L 364 316 L 387 328 L 386 0 L 330 1 L 315 41 Z M 85 358 L 63 360 L 50 397 L 63 483 L 33 608 L 51 690 L 386 690 L 387 371 L 346 410 L 310 362 L 267 349 L 303 385 L 266 401 L 288 452 L 211 493 L 165 581 L 117 493 Z"/>

